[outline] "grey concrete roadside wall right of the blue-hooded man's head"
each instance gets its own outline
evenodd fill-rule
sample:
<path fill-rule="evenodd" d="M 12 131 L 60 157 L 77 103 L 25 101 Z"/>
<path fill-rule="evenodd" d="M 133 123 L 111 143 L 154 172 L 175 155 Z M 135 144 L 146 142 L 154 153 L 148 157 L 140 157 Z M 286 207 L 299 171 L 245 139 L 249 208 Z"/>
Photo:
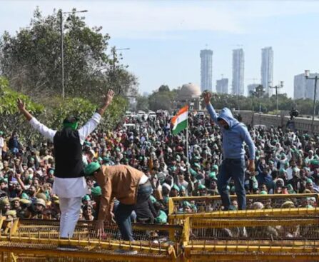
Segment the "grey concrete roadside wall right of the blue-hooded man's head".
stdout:
<path fill-rule="evenodd" d="M 277 120 L 277 116 L 275 115 L 268 115 L 268 114 L 252 114 L 252 111 L 240 111 L 240 115 L 243 118 L 243 122 L 245 124 L 252 124 L 253 121 L 253 125 L 265 125 L 265 126 L 277 126 L 277 121 L 279 123 L 279 126 L 286 126 L 288 120 L 290 119 L 290 116 L 288 114 L 288 112 L 285 112 L 285 114 L 281 114 L 280 116 L 278 116 L 278 120 Z M 298 131 L 311 131 L 311 123 L 312 123 L 312 119 L 308 119 L 308 118 L 302 118 L 302 117 L 297 117 L 294 119 L 295 122 L 295 129 Z M 314 122 L 314 131 L 315 133 L 319 133 L 319 119 L 315 119 Z"/>

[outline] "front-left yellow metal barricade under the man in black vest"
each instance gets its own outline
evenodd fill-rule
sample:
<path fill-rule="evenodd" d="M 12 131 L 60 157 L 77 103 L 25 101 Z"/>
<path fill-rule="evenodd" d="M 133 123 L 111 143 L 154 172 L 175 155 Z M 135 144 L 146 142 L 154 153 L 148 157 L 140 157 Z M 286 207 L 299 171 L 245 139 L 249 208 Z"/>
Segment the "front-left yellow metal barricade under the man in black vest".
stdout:
<path fill-rule="evenodd" d="M 79 221 L 73 238 L 59 237 L 59 221 L 16 220 L 7 234 L 0 235 L 0 261 L 176 261 L 181 226 L 133 224 L 135 241 L 121 241 L 118 228 L 105 224 L 106 235 L 96 236 L 95 224 Z M 169 236 L 172 236 L 170 239 Z M 58 246 L 74 246 L 61 251 Z M 129 250 L 131 253 L 115 252 Z M 133 253 L 137 251 L 137 253 Z M 24 259 L 25 258 L 25 259 Z M 68 260 L 69 259 L 69 260 Z"/>

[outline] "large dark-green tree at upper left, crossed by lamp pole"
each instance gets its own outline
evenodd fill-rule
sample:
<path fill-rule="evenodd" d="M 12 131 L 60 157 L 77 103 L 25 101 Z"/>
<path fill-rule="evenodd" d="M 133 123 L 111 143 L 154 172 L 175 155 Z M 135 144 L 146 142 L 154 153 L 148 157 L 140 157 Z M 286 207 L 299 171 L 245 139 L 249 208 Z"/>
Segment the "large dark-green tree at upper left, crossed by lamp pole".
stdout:
<path fill-rule="evenodd" d="M 0 41 L 0 69 L 16 91 L 41 96 L 61 94 L 61 32 L 59 12 L 42 16 L 36 9 L 30 26 L 16 36 L 5 32 Z M 64 75 L 66 96 L 93 101 L 108 87 L 126 95 L 136 89 L 137 79 L 120 63 L 106 55 L 108 34 L 101 27 L 89 28 L 76 9 L 64 21 Z M 116 83 L 116 84 L 115 84 Z"/>

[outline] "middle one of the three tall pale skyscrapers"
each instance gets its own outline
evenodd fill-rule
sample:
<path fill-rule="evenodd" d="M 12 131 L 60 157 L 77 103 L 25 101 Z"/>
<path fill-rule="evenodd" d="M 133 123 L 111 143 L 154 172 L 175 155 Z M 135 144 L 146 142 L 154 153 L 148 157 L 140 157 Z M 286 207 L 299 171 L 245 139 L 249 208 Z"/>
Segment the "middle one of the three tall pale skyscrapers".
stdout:
<path fill-rule="evenodd" d="M 244 86 L 244 64 L 245 57 L 243 49 L 233 50 L 233 90 L 232 94 L 243 96 Z"/>

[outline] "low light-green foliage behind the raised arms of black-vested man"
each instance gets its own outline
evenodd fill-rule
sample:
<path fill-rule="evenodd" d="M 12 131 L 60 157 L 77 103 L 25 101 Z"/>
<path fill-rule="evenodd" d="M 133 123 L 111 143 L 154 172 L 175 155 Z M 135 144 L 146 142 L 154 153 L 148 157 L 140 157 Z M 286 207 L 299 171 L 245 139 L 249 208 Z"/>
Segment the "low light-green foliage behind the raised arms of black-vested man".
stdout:
<path fill-rule="evenodd" d="M 29 124 L 26 124 L 24 116 L 21 116 L 16 106 L 16 99 L 21 98 L 26 102 L 28 111 L 39 121 L 52 129 L 61 129 L 61 124 L 66 116 L 76 115 L 79 117 L 79 125 L 86 123 L 96 111 L 96 104 L 88 99 L 66 98 L 51 96 L 42 101 L 46 106 L 31 101 L 29 96 L 13 91 L 9 87 L 9 81 L 0 77 L 0 130 L 6 134 L 19 131 L 19 135 L 28 143 L 36 143 L 44 138 Z M 101 101 L 100 101 L 101 103 Z M 128 103 L 121 96 L 116 96 L 108 107 L 106 114 L 98 125 L 98 129 L 111 130 L 119 122 L 126 111 Z"/>

